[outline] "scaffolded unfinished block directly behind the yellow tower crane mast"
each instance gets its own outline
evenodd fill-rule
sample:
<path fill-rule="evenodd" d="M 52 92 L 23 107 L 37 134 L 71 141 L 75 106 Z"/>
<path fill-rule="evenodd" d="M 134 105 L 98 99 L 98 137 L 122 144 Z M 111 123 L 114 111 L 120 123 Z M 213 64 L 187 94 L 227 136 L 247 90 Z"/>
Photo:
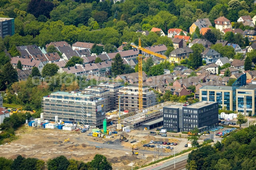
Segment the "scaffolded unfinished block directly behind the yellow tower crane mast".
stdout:
<path fill-rule="evenodd" d="M 121 111 L 138 111 L 139 108 L 139 88 L 138 86 L 126 86 L 119 90 Z M 156 96 L 153 90 L 143 87 L 143 108 L 154 106 L 156 104 Z M 116 98 L 116 108 L 118 108 L 118 97 Z"/>

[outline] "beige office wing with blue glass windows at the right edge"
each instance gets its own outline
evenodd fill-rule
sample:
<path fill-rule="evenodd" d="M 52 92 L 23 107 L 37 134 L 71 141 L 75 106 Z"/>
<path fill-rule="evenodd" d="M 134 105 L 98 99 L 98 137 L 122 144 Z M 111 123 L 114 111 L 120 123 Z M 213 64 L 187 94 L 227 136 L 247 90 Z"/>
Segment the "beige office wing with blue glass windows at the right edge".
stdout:
<path fill-rule="evenodd" d="M 255 114 L 256 84 L 241 86 L 236 90 L 236 110 L 246 116 Z"/>

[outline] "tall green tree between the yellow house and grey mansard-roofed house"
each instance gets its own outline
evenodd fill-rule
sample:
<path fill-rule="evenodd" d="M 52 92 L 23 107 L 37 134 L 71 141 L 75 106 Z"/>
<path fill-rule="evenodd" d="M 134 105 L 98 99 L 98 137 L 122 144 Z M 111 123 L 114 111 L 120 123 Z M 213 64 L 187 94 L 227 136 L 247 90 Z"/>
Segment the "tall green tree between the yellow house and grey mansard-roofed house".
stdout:
<path fill-rule="evenodd" d="M 191 62 L 190 66 L 194 68 L 202 66 L 201 53 L 202 53 L 202 50 L 204 49 L 204 46 L 202 44 L 194 44 L 192 45 L 191 49 L 194 52 L 189 54 L 189 60 L 193 61 Z"/>

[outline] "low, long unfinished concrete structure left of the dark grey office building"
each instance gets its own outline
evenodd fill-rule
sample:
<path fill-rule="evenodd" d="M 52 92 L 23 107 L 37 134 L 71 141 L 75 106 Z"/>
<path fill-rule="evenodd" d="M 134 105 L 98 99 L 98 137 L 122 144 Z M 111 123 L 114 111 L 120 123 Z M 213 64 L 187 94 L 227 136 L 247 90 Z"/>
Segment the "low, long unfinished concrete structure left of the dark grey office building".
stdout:
<path fill-rule="evenodd" d="M 159 119 L 163 117 L 163 107 L 166 106 L 182 106 L 183 103 L 176 103 L 176 102 L 163 102 L 156 104 L 154 106 L 148 107 L 139 113 L 138 111 L 127 113 L 129 116 L 125 116 L 123 114 L 121 117 L 121 124 L 122 126 L 130 126 L 134 129 L 139 128 L 142 124 L 147 122 L 151 122 L 153 120 Z M 132 115 L 132 116 L 131 116 Z M 118 117 L 116 117 L 118 119 Z"/>

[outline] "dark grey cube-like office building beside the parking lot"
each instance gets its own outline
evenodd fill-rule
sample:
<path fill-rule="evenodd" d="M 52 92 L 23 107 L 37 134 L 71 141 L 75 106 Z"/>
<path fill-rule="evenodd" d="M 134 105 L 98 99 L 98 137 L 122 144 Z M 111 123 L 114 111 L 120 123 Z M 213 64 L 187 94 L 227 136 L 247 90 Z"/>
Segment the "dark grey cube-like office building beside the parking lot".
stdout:
<path fill-rule="evenodd" d="M 218 125 L 218 102 L 201 101 L 189 106 L 167 106 L 164 110 L 163 129 L 168 131 L 191 131 L 197 127 L 200 132 Z"/>

